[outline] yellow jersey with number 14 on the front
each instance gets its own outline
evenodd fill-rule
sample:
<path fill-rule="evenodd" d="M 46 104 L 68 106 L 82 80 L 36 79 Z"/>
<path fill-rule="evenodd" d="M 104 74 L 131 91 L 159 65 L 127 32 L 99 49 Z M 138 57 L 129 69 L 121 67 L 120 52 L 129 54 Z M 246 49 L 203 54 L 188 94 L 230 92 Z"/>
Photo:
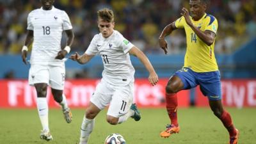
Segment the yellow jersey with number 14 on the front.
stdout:
<path fill-rule="evenodd" d="M 190 17 L 191 18 L 191 17 Z M 217 34 L 218 21 L 212 15 L 204 14 L 197 21 L 191 18 L 193 24 L 201 31 L 212 31 Z M 218 70 L 218 65 L 214 55 L 214 42 L 208 46 L 195 34 L 188 26 L 185 18 L 182 16 L 175 21 L 176 28 L 184 28 L 186 31 L 187 51 L 184 58 L 184 67 L 191 68 L 195 72 L 212 72 Z"/>

